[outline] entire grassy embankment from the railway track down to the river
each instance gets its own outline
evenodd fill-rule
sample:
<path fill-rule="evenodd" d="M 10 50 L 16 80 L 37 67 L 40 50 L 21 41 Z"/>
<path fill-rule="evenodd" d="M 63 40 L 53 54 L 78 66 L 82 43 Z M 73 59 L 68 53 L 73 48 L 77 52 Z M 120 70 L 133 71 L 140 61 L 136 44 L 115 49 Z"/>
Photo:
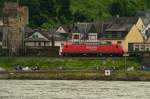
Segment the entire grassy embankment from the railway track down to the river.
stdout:
<path fill-rule="evenodd" d="M 39 66 L 39 72 L 15 72 L 14 66 Z M 138 58 L 128 58 L 127 66 L 140 66 Z M 1 79 L 52 79 L 52 80 L 124 80 L 150 81 L 150 73 L 143 71 L 113 72 L 110 77 L 96 70 L 97 67 L 112 67 L 123 70 L 124 58 L 48 58 L 48 57 L 1 57 L 0 67 L 8 72 L 0 75 Z M 63 70 L 59 70 L 63 67 Z M 64 71 L 66 70 L 66 71 Z M 77 71 L 76 71 L 77 70 Z"/>

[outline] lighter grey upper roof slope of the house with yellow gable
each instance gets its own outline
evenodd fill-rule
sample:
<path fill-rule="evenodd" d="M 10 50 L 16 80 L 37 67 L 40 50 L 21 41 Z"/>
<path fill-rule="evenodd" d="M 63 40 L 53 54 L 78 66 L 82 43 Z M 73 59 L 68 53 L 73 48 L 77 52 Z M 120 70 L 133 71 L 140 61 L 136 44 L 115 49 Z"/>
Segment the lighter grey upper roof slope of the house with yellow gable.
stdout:
<path fill-rule="evenodd" d="M 130 31 L 132 24 L 113 24 L 110 28 L 105 31 L 116 31 L 116 32 L 128 32 Z"/>

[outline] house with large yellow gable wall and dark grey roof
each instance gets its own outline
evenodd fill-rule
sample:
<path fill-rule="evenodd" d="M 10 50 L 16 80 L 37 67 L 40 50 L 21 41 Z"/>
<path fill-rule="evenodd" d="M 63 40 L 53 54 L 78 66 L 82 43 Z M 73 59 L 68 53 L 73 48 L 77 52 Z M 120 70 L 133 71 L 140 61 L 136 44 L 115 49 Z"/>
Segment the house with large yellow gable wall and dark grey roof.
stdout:
<path fill-rule="evenodd" d="M 107 44 L 119 44 L 128 51 L 129 43 L 143 43 L 143 35 L 134 24 L 113 24 L 105 30 L 103 41 Z"/>

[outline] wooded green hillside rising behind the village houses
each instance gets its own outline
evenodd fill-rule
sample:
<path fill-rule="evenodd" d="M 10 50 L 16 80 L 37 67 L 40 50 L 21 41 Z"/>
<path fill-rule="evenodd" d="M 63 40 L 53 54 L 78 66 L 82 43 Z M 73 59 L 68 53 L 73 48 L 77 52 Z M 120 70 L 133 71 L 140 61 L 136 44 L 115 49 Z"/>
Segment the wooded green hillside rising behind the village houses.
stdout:
<path fill-rule="evenodd" d="M 6 0 L 0 0 L 2 7 Z M 12 1 L 12 0 L 9 0 Z M 13 0 L 15 1 L 15 0 Z M 150 9 L 150 0 L 16 0 L 29 7 L 30 26 L 52 28 L 60 24 L 90 22 L 112 16 L 134 16 Z M 0 13 L 2 16 L 2 13 Z"/>

